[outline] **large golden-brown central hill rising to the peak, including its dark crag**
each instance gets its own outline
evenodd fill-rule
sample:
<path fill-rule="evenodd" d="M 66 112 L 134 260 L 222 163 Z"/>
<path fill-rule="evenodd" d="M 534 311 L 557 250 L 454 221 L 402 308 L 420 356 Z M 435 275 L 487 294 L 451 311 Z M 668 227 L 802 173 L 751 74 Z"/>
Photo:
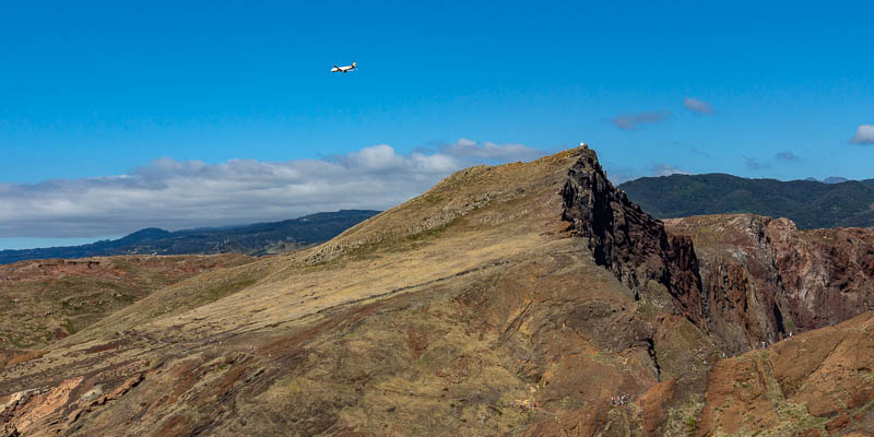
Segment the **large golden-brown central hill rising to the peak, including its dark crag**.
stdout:
<path fill-rule="evenodd" d="M 28 436 L 685 436 L 720 356 L 697 265 L 587 147 L 473 167 L 10 366 L 0 420 Z"/>

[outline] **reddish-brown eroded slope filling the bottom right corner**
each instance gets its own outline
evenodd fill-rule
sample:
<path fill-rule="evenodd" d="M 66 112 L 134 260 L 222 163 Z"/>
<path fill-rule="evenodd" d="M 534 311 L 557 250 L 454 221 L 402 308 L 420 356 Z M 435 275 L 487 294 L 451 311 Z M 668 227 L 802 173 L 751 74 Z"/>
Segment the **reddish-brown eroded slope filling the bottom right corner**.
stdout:
<path fill-rule="evenodd" d="M 720 359 L 707 375 L 705 406 L 685 424 L 685 435 L 871 436 L 872 362 L 872 312 Z M 645 408 L 671 404 L 675 393 L 670 382 L 662 386 L 669 387 L 657 386 L 643 397 Z M 660 432 L 669 430 L 665 424 Z"/>

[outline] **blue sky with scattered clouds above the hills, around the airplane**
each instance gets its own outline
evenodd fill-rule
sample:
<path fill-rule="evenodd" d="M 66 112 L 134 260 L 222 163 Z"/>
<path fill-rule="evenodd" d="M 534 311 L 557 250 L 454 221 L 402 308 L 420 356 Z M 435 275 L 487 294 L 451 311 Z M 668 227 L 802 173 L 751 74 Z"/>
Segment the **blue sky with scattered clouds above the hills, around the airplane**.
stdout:
<path fill-rule="evenodd" d="M 0 248 L 387 208 L 580 140 L 615 180 L 874 177 L 870 2 L 31 3 L 0 3 Z M 383 191 L 199 191 L 312 162 Z"/>

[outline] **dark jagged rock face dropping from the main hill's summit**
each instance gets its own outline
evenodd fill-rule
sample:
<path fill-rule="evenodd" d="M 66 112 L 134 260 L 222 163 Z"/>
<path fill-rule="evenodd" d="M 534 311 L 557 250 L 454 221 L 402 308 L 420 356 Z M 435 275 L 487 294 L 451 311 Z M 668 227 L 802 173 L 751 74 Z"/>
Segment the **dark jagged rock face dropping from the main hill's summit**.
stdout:
<path fill-rule="evenodd" d="M 570 167 L 562 198 L 563 218 L 588 239 L 597 263 L 638 294 L 654 281 L 676 300 L 683 315 L 706 329 L 708 308 L 692 239 L 668 234 L 662 222 L 613 187 L 594 151 L 584 149 Z"/>

